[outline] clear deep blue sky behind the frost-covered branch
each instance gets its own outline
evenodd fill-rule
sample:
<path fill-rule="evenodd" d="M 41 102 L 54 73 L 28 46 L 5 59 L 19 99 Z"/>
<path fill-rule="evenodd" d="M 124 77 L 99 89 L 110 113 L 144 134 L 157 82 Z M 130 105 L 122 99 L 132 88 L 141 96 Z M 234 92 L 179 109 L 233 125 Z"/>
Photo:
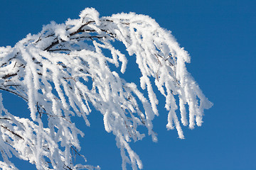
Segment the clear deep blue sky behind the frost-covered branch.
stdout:
<path fill-rule="evenodd" d="M 194 130 L 184 127 L 186 139 L 179 140 L 176 130 L 166 130 L 167 112 L 160 97 L 160 115 L 154 120 L 159 142 L 145 137 L 132 143 L 144 169 L 256 169 L 256 2 L 2 0 L 0 46 L 13 46 L 50 21 L 78 18 L 86 7 L 96 8 L 101 16 L 122 11 L 146 14 L 171 30 L 191 55 L 188 71 L 214 103 L 205 111 L 203 126 Z M 26 112 L 21 99 L 6 93 L 4 97 L 11 112 Z M 119 149 L 114 136 L 103 130 L 102 115 L 92 113 L 90 123 L 90 128 L 81 126 L 87 137 L 81 145 L 88 164 L 121 169 Z M 17 167 L 35 169 L 23 162 Z"/>

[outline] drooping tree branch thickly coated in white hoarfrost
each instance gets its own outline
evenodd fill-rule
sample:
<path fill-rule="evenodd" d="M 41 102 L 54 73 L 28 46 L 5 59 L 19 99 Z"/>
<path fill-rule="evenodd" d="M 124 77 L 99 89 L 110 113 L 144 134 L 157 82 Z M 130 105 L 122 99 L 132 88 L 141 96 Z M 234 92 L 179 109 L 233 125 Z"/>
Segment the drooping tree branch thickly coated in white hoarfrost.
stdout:
<path fill-rule="evenodd" d="M 130 56 L 114 47 L 114 41 L 122 42 Z M 122 78 L 128 57 L 136 57 L 140 87 Z M 181 123 L 189 128 L 201 126 L 204 109 L 212 106 L 187 72 L 186 62 L 190 62 L 188 52 L 149 16 L 118 13 L 100 17 L 94 8 L 85 8 L 78 19 L 51 22 L 14 47 L 0 47 L 0 89 L 23 98 L 31 112 L 31 120 L 19 118 L 0 102 L 4 159 L 0 167 L 16 169 L 9 161 L 13 154 L 36 164 L 37 169 L 100 169 L 75 164 L 72 158 L 72 152 L 80 150 L 78 135 L 84 134 L 71 118 L 82 116 L 90 126 L 87 115 L 93 107 L 102 113 L 105 130 L 116 137 L 122 169 L 127 163 L 132 169 L 142 169 L 129 142 L 144 137 L 137 130 L 139 125 L 157 141 L 152 125 L 159 115 L 156 89 L 166 98 L 166 128 L 176 128 L 180 138 L 184 138 Z"/>

